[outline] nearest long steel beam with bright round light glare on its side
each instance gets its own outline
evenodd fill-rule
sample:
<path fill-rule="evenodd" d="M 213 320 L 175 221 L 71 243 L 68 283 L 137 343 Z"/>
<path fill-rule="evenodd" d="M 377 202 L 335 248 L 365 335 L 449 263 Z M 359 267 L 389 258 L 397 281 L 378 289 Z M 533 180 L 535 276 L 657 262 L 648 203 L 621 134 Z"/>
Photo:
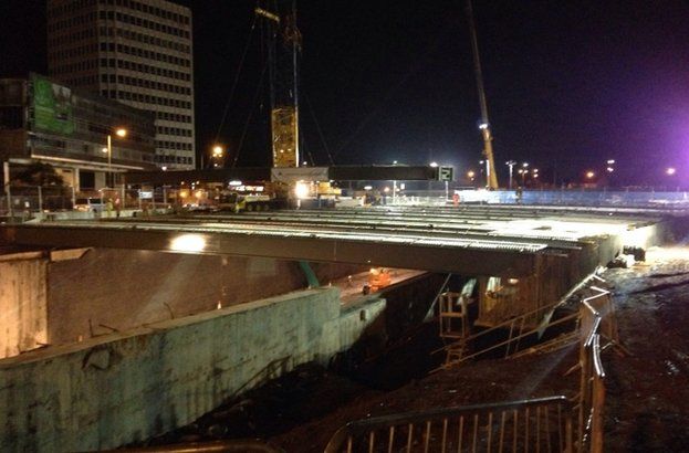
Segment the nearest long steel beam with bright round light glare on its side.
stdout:
<path fill-rule="evenodd" d="M 237 225 L 212 229 L 202 225 L 121 224 L 114 222 L 79 224 L 7 225 L 2 239 L 12 244 L 70 247 L 112 247 L 173 253 L 228 254 L 280 260 L 306 260 L 415 268 L 461 275 L 526 276 L 535 272 L 535 256 L 545 252 L 497 241 L 457 243 L 395 236 L 334 235 L 312 233 L 281 234 L 239 231 Z M 181 236 L 194 242 L 194 250 L 175 245 Z M 198 247 L 202 244 L 202 247 Z"/>

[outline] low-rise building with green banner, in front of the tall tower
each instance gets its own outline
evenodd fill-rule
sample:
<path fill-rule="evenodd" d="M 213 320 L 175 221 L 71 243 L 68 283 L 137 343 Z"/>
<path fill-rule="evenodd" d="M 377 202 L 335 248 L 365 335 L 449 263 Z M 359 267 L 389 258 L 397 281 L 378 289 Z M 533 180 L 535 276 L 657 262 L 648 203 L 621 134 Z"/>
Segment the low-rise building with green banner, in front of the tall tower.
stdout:
<path fill-rule="evenodd" d="M 3 181 L 11 180 L 12 169 L 35 161 L 53 166 L 76 191 L 116 183 L 125 171 L 153 170 L 154 119 L 149 112 L 38 74 L 1 78 Z M 116 135 L 118 129 L 126 131 L 124 137 Z"/>

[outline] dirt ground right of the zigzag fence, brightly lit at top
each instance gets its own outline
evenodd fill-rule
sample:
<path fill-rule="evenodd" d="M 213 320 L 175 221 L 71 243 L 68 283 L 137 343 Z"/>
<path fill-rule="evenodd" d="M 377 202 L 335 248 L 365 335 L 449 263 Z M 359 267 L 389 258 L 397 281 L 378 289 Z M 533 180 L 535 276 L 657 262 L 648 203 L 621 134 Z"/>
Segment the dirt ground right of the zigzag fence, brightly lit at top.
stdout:
<path fill-rule="evenodd" d="M 604 358 L 606 450 L 689 451 L 689 247 L 651 249 L 606 277 L 631 352 Z"/>

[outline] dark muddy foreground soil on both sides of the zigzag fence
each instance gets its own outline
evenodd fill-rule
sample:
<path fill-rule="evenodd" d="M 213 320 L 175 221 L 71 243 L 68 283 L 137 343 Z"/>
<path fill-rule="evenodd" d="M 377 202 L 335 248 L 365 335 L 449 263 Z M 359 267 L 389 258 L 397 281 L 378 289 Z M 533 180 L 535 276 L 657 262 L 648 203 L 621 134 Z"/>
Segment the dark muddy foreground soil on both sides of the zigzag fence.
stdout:
<path fill-rule="evenodd" d="M 620 340 L 604 352 L 605 451 L 689 451 L 689 249 L 653 249 L 645 263 L 613 268 Z M 349 376 L 300 367 L 262 389 L 152 443 L 262 438 L 288 452 L 322 452 L 349 420 L 470 403 L 565 394 L 578 389 L 577 346 L 519 359 L 480 360 L 426 375 L 440 358 L 429 324 L 383 364 Z M 404 382 L 404 383 L 401 383 Z"/>

